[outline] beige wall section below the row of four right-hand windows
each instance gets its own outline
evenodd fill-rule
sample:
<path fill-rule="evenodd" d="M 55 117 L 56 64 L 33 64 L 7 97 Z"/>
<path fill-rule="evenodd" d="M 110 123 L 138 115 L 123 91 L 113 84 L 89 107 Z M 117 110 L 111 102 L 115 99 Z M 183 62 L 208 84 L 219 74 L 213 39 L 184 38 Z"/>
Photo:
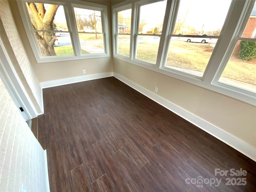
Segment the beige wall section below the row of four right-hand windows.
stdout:
<path fill-rule="evenodd" d="M 256 148 L 256 107 L 114 58 L 114 73 L 154 92 Z"/>

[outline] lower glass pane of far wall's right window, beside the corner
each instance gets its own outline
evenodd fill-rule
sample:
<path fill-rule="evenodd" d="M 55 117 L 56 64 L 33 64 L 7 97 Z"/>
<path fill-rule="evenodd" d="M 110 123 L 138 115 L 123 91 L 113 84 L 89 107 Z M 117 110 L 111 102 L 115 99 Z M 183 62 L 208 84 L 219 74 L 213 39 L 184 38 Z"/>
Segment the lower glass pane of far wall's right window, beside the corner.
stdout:
<path fill-rule="evenodd" d="M 78 33 L 82 54 L 105 53 L 103 34 Z"/>

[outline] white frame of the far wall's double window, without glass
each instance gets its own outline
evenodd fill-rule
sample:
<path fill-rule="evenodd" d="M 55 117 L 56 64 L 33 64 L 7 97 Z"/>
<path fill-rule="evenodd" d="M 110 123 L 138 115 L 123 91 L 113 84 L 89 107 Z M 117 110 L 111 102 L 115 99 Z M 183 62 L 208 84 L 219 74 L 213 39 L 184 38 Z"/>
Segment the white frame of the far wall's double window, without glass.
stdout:
<path fill-rule="evenodd" d="M 34 28 L 32 26 L 32 22 L 30 21 L 30 17 L 28 14 L 28 10 L 26 8 L 26 2 L 35 2 L 35 3 L 46 3 L 46 4 L 58 4 L 64 7 L 64 13 L 66 17 L 66 22 L 68 26 L 68 33 L 70 33 L 70 39 L 72 42 L 72 47 L 74 50 L 74 55 L 67 56 L 42 56 L 36 38 L 34 36 Z M 18 8 L 20 11 L 20 15 L 22 18 L 22 22 L 24 24 L 26 34 L 28 36 L 28 40 L 30 42 L 31 48 L 33 50 L 34 56 L 38 63 L 43 62 L 56 62 L 56 61 L 66 61 L 66 60 L 78 60 L 78 59 L 89 59 L 89 58 L 102 58 L 110 56 L 110 48 L 109 48 L 109 37 L 108 37 L 108 19 L 107 19 L 107 6 L 77 1 L 77 0 L 63 0 L 63 1 L 48 1 L 48 0 L 17 0 Z M 76 26 L 76 18 L 74 14 L 74 7 L 97 10 L 101 12 L 102 19 L 102 32 L 104 36 L 104 50 L 105 53 L 100 54 L 82 54 L 80 49 L 80 41 L 78 38 L 78 30 Z M 53 30 L 52 32 L 58 32 Z"/>

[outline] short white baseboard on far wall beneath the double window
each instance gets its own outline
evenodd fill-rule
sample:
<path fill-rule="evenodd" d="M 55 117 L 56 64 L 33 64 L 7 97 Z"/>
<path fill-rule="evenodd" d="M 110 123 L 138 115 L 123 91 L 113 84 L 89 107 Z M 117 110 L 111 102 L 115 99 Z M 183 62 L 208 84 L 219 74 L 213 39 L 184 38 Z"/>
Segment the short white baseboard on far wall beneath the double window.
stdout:
<path fill-rule="evenodd" d="M 78 76 L 78 77 L 70 77 L 70 78 L 65 78 L 65 79 L 41 82 L 40 85 L 41 85 L 42 89 L 44 89 L 44 88 L 48 88 L 48 87 L 55 87 L 55 86 L 60 86 L 60 85 L 78 83 L 78 82 L 100 79 L 100 78 L 105 78 L 105 77 L 112 77 L 112 76 L 113 76 L 113 72 L 97 73 L 97 74 L 92 74 L 92 75 L 83 75 L 83 76 Z"/>

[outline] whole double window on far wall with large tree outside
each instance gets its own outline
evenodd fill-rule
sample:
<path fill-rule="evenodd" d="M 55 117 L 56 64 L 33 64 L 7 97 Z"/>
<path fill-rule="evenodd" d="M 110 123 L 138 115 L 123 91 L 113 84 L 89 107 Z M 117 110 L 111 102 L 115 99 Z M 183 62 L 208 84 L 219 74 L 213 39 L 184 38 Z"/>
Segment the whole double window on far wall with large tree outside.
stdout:
<path fill-rule="evenodd" d="M 106 6 L 81 1 L 17 3 L 37 62 L 109 56 Z"/>

